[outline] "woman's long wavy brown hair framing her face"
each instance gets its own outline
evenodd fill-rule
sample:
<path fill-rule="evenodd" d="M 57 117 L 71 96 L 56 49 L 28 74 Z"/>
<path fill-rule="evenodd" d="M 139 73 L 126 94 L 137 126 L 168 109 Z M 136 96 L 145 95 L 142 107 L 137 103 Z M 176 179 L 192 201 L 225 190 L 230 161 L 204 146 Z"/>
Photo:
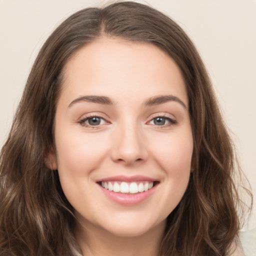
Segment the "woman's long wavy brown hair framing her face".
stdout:
<path fill-rule="evenodd" d="M 72 14 L 37 55 L 0 154 L 1 256 L 80 255 L 73 208 L 45 157 L 54 145 L 63 67 L 79 48 L 101 36 L 156 45 L 175 60 L 185 80 L 194 171 L 167 218 L 159 255 L 227 255 L 239 229 L 235 161 L 202 60 L 172 19 L 143 4 L 116 2 Z"/>

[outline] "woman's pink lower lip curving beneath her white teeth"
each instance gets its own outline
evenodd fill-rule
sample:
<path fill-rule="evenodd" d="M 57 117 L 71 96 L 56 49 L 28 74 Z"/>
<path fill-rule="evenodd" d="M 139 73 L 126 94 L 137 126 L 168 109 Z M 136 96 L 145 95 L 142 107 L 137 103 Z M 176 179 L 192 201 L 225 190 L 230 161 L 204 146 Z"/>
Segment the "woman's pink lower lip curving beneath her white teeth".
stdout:
<path fill-rule="evenodd" d="M 109 191 L 102 186 L 99 185 L 101 188 L 102 192 L 112 201 L 122 204 L 122 205 L 134 205 L 141 203 L 145 201 L 149 196 L 153 194 L 155 191 L 155 188 L 158 184 L 154 185 L 151 189 L 144 191 L 144 192 L 139 192 L 136 194 L 122 194 L 122 193 L 116 193 L 113 191 Z"/>

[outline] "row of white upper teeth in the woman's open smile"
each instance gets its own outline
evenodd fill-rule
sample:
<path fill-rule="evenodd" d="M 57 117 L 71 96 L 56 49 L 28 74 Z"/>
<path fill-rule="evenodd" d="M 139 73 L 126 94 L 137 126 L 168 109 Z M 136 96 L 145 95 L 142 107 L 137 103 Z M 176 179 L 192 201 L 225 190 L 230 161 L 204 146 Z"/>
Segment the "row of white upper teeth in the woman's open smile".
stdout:
<path fill-rule="evenodd" d="M 153 182 L 141 181 L 137 182 L 118 182 L 114 181 L 102 181 L 101 186 L 109 191 L 120 192 L 120 193 L 138 193 L 144 192 L 153 187 Z"/>

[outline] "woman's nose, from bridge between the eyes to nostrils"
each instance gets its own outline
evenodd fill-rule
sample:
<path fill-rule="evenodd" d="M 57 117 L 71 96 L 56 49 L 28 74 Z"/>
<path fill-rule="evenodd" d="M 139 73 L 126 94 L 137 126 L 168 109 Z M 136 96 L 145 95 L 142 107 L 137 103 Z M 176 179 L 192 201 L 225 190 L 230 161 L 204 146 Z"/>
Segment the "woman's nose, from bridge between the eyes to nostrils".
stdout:
<path fill-rule="evenodd" d="M 113 161 L 131 165 L 147 159 L 146 140 L 136 125 L 119 127 L 114 133 L 111 149 Z"/>

